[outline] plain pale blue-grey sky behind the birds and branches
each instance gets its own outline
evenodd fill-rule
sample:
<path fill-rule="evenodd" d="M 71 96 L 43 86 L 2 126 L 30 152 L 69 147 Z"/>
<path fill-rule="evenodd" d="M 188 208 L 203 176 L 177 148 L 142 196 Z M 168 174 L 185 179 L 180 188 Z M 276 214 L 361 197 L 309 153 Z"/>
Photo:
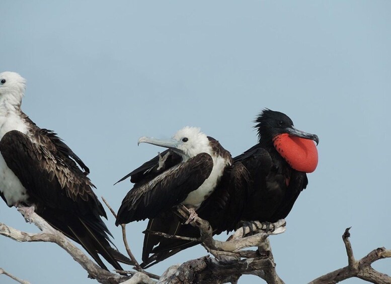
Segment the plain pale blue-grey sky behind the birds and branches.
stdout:
<path fill-rule="evenodd" d="M 0 72 L 27 79 L 24 112 L 83 159 L 116 210 L 131 184 L 113 183 L 162 150 L 137 147 L 140 136 L 198 126 L 235 156 L 256 143 L 263 108 L 318 134 L 319 166 L 270 238 L 278 274 L 304 283 L 347 265 L 346 227 L 356 258 L 391 248 L 390 15 L 389 1 L 3 0 Z M 3 202 L 0 221 L 37 231 Z M 127 226 L 137 259 L 145 226 Z M 197 246 L 149 271 L 205 254 Z M 391 274 L 390 259 L 373 266 Z M 94 282 L 50 243 L 0 237 L 0 267 L 33 283 Z"/>

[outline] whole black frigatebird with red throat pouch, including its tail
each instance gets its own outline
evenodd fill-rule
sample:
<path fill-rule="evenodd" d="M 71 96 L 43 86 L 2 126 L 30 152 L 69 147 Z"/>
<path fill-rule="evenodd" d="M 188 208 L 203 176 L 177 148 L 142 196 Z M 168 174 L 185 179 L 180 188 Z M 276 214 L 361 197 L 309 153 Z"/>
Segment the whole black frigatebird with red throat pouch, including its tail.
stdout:
<path fill-rule="evenodd" d="M 319 138 L 315 134 L 299 131 L 293 127 L 292 120 L 283 113 L 265 109 L 257 117 L 259 143 L 245 151 L 243 154 L 233 158 L 233 164 L 245 166 L 250 173 L 250 186 L 248 191 L 243 191 L 228 202 L 221 203 L 219 211 L 229 213 L 229 207 L 237 206 L 236 203 L 245 203 L 243 211 L 236 219 L 225 220 L 229 226 L 221 227 L 224 218 L 216 219 L 211 216 L 216 211 L 214 201 L 220 197 L 220 192 L 216 190 L 198 211 L 198 216 L 208 220 L 212 228 L 217 226 L 214 233 L 229 231 L 239 227 L 242 221 L 260 221 L 270 225 L 280 219 L 286 218 L 300 192 L 306 187 L 308 179 L 306 173 L 316 169 L 318 164 L 317 145 Z M 242 165 L 243 164 L 243 165 Z M 222 184 L 220 190 L 224 190 L 233 184 Z M 229 196 L 229 195 L 228 195 Z M 212 214 L 210 214 L 213 212 Z M 166 219 L 164 219 L 165 217 Z M 163 216 L 164 222 L 175 224 L 171 219 Z M 217 220 L 217 222 L 213 222 Z M 234 223 L 233 221 L 238 221 Z M 230 223 L 229 223 L 230 222 Z M 163 222 L 161 222 L 163 223 Z M 243 223 L 242 223 L 243 224 Z M 248 225 L 245 222 L 246 225 Z M 149 225 L 149 224 L 148 224 Z M 167 225 L 165 225 L 167 227 Z M 155 231 L 159 231 L 159 227 Z M 171 234 L 185 237 L 198 237 L 199 232 L 190 226 L 179 225 Z M 197 242 L 185 240 L 162 239 L 157 247 L 148 249 L 148 253 L 153 253 L 148 258 L 143 258 L 142 266 L 149 267 L 175 253 L 196 245 Z"/>

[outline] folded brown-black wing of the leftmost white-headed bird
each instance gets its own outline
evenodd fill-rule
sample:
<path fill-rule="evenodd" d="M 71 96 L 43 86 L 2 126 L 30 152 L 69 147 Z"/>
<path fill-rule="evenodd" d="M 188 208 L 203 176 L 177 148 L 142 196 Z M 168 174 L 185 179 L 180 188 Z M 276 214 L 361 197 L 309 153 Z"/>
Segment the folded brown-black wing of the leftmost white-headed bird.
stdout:
<path fill-rule="evenodd" d="M 106 217 L 92 190 L 94 185 L 76 163 L 42 133 L 35 138 L 38 143 L 32 143 L 27 135 L 14 130 L 1 140 L 4 159 L 29 196 L 45 206 Z"/>

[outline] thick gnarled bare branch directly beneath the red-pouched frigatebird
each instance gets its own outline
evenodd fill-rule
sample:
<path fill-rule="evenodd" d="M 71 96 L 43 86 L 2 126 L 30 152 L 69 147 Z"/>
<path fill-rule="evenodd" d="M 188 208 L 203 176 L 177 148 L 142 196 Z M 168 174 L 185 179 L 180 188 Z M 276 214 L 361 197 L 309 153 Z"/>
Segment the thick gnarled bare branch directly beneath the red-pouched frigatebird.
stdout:
<path fill-rule="evenodd" d="M 177 210 L 184 219 L 189 217 L 190 212 L 186 207 L 179 206 Z M 243 228 L 240 228 L 225 242 L 213 239 L 213 230 L 206 220 L 196 217 L 190 224 L 200 230 L 201 237 L 198 241 L 216 258 L 204 256 L 180 266 L 171 266 L 159 283 L 236 283 L 245 273 L 257 275 L 270 283 L 284 283 L 275 271 L 270 243 L 267 241 L 264 244 L 270 234 L 285 231 L 284 220 L 274 224 L 276 229 L 273 232 L 260 232 L 244 238 Z M 262 228 L 260 223 L 254 223 L 253 226 L 254 231 Z M 259 246 L 259 251 L 242 250 L 252 246 Z M 245 258 L 242 259 L 243 257 Z"/>

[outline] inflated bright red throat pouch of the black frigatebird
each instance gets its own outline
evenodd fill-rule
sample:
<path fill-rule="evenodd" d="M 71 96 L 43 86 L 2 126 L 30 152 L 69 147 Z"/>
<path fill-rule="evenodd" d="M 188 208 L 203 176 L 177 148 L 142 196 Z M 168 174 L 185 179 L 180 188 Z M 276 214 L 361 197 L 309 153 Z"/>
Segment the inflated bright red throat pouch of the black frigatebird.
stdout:
<path fill-rule="evenodd" d="M 283 133 L 273 139 L 274 147 L 295 170 L 313 172 L 318 165 L 318 149 L 314 141 Z"/>

